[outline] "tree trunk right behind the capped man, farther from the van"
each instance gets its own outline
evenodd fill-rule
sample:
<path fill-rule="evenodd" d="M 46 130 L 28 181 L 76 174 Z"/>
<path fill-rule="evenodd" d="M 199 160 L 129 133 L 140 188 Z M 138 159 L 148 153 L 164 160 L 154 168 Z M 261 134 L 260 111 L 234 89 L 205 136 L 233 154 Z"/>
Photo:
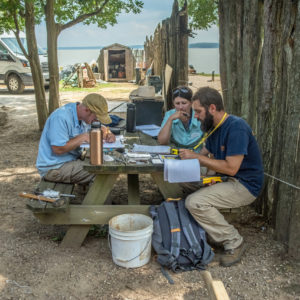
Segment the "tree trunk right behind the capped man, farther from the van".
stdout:
<path fill-rule="evenodd" d="M 59 25 L 54 18 L 54 0 L 47 0 L 45 6 L 46 27 L 47 27 L 47 47 L 48 65 L 50 75 L 49 85 L 49 113 L 59 107 L 59 70 L 57 57 L 57 39 L 59 35 Z"/>

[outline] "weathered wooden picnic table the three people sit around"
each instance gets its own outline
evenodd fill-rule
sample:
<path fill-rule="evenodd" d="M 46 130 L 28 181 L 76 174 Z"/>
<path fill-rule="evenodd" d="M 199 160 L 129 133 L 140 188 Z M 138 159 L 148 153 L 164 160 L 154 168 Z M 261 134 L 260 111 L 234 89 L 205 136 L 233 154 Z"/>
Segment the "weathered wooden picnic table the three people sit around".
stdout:
<path fill-rule="evenodd" d="M 142 132 L 126 133 L 128 144 L 157 145 L 157 141 Z M 96 175 L 81 205 L 69 204 L 65 210 L 43 210 L 34 212 L 43 224 L 70 225 L 61 245 L 64 247 L 80 247 L 84 241 L 90 225 L 107 224 L 108 221 L 124 213 L 149 214 L 149 205 L 140 204 L 139 175 L 150 174 L 157 184 L 163 197 L 178 197 L 181 189 L 178 184 L 165 182 L 163 178 L 163 165 L 152 164 L 151 161 L 143 164 L 129 163 L 124 155 L 113 151 L 116 159 L 112 162 L 95 166 L 84 166 L 90 173 Z M 105 201 L 113 189 L 120 174 L 127 174 L 128 179 L 128 205 L 105 205 Z"/>

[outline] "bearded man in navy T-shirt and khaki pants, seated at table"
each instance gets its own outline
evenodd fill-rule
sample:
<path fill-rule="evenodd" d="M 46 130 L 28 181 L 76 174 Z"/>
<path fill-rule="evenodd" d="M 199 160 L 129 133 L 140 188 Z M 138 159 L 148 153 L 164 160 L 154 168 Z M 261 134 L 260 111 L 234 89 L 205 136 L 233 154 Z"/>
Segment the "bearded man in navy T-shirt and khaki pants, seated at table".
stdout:
<path fill-rule="evenodd" d="M 229 267 L 240 261 L 246 245 L 239 232 L 218 211 L 252 203 L 263 185 L 263 166 L 250 126 L 224 111 L 215 89 L 200 88 L 193 96 L 195 118 L 206 132 L 206 145 L 195 153 L 180 149 L 181 159 L 199 160 L 201 166 L 229 176 L 227 182 L 200 188 L 186 199 L 186 207 L 210 238 L 224 247 L 220 264 Z"/>

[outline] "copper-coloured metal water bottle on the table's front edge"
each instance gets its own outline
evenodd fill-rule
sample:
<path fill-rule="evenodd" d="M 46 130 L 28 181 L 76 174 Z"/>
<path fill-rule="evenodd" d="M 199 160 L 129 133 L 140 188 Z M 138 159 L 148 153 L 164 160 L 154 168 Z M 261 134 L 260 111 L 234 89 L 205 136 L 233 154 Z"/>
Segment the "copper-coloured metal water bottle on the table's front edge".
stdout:
<path fill-rule="evenodd" d="M 91 165 L 101 165 L 103 163 L 103 137 L 100 122 L 93 122 L 91 126 L 90 152 Z"/>

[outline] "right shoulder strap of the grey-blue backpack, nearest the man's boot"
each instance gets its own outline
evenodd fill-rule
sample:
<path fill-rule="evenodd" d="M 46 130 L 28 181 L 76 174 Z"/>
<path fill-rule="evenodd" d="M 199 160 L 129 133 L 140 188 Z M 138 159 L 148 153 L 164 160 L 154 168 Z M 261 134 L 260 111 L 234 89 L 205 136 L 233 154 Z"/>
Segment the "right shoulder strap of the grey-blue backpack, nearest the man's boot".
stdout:
<path fill-rule="evenodd" d="M 193 231 L 193 227 L 191 224 L 191 220 L 189 218 L 187 209 L 185 208 L 185 203 L 183 200 L 178 202 L 178 211 L 179 211 L 179 217 L 182 225 L 183 233 L 191 247 L 191 250 L 195 254 L 197 258 L 201 258 L 202 256 L 202 249 L 201 246 L 195 236 L 195 233 Z"/>

